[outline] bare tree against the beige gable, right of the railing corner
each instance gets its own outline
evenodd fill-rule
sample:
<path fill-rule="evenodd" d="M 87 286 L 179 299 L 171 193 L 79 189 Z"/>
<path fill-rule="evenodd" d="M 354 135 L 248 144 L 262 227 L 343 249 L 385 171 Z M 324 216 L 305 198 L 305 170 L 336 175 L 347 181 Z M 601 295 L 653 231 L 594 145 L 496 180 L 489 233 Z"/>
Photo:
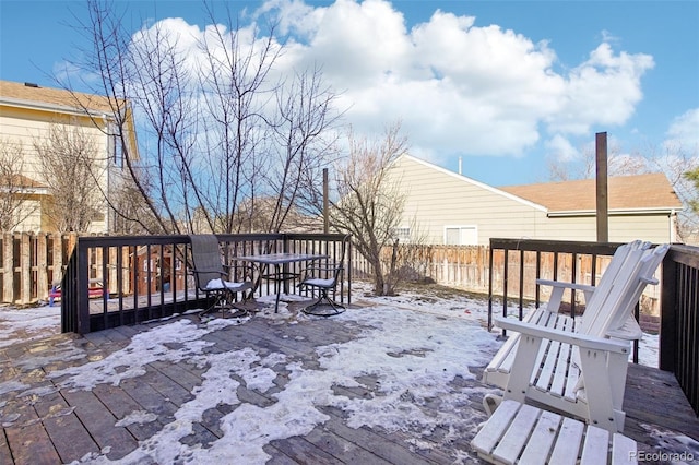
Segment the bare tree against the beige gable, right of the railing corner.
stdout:
<path fill-rule="evenodd" d="M 394 242 L 395 228 L 403 216 L 405 195 L 400 180 L 390 177 L 392 163 L 406 152 L 406 139 L 400 135 L 400 124 L 388 128 L 380 141 L 348 135 L 350 155 L 337 169 L 339 200 L 332 203 L 331 222 L 342 231 L 353 235 L 354 243 L 374 270 L 374 291 L 394 293 L 391 263 L 382 261 L 382 251 Z"/>

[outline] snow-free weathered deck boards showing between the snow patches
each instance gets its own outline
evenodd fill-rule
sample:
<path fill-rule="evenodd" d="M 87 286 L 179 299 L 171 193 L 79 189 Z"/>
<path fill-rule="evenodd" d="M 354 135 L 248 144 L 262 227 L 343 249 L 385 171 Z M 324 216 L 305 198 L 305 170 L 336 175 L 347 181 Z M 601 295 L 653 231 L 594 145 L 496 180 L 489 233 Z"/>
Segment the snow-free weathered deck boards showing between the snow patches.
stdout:
<path fill-rule="evenodd" d="M 197 321 L 194 315 L 182 317 Z M 23 391 L 59 386 L 62 378 L 49 379 L 46 373 L 61 368 L 80 366 L 88 360 L 99 360 L 126 347 L 131 338 L 157 324 L 91 333 L 85 337 L 59 335 L 42 341 L 0 348 L 0 383 L 21 382 Z M 245 348 L 254 349 L 264 358 L 284 354 L 287 361 L 299 362 L 305 369 L 321 369 L 317 347 L 353 341 L 359 334 L 360 323 L 337 319 L 301 319 L 289 324 L 287 320 L 253 315 L 240 325 L 230 325 L 210 332 L 202 337 L 212 345 L 206 354 L 225 354 Z M 52 360 L 46 358 L 54 347 L 74 345 L 84 351 L 82 358 Z M 28 360 L 28 361 L 27 361 Z M 236 359 L 232 357 L 230 363 Z M 116 460 L 133 451 L 139 441 L 158 433 L 175 420 L 176 413 L 194 396 L 192 392 L 203 382 L 208 367 L 186 361 L 158 360 L 147 363 L 145 373 L 122 380 L 119 385 L 98 384 L 92 391 L 71 391 L 63 388 L 43 395 L 20 396 L 11 391 L 5 404 L 0 403 L 3 436 L 0 438 L 0 463 L 59 464 L 78 461 L 90 453 L 109 448 L 108 457 Z M 276 388 L 260 392 L 246 385 L 237 374 L 232 375 L 230 386 L 241 404 L 261 408 L 273 406 L 276 393 L 289 382 L 286 362 L 272 367 L 276 373 Z M 479 380 L 483 367 L 470 367 Z M 351 400 L 382 395 L 376 375 L 357 377 L 356 386 L 333 386 L 336 395 Z M 458 377 L 449 384 L 454 392 L 482 390 L 479 381 Z M 40 391 L 38 391 L 40 392 Z M 483 413 L 481 397 L 470 396 L 464 402 Z M 220 404 L 202 414 L 192 424 L 192 432 L 180 443 L 208 448 L 223 437 L 221 420 L 238 405 Z M 453 434 L 437 426 L 430 434 L 410 431 L 386 431 L 367 426 L 352 428 L 347 413 L 336 407 L 318 407 L 329 417 L 310 432 L 271 441 L 264 451 L 272 456 L 270 464 L 451 464 L 477 462 L 471 450 L 470 438 Z M 453 414 L 443 412 L 440 400 L 426 400 L 419 405 L 426 416 Z M 640 450 L 653 451 L 657 439 L 651 436 L 649 425 L 659 430 L 673 430 L 699 440 L 699 419 L 694 415 L 677 382 L 670 373 L 647 367 L 630 366 L 625 400 L 627 410 L 626 433 L 641 442 Z M 117 427 L 134 412 L 155 414 L 149 421 L 133 421 Z M 483 413 L 483 418 L 485 414 Z M 473 419 L 474 429 L 478 418 Z M 474 430 L 475 434 L 475 430 Z M 645 448 L 645 449 L 644 449 Z M 466 457 L 466 458 L 464 458 Z"/>

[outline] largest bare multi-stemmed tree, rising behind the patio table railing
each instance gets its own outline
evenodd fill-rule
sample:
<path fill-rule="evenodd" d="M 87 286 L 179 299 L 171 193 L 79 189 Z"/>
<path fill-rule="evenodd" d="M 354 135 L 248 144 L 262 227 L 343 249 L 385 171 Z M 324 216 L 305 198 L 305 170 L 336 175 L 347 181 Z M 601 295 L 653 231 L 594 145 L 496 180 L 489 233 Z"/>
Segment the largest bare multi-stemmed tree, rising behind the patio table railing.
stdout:
<path fill-rule="evenodd" d="M 337 116 L 334 94 L 318 70 L 294 79 L 275 71 L 283 45 L 258 31 L 240 32 L 232 15 L 214 17 L 193 49 L 162 23 L 137 34 L 126 29 L 115 3 L 90 0 L 83 31 L 93 50 L 80 68 L 99 75 L 117 116 L 131 194 L 143 199 L 157 233 L 252 230 L 257 203 L 274 199 L 264 228 L 281 230 L 289 212 L 317 193 L 311 172 L 334 155 L 325 135 Z M 129 117 L 138 118 L 140 154 L 131 153 Z M 128 211 L 111 202 L 118 215 Z M 266 208 L 264 208 L 266 211 Z M 139 215 L 138 220 L 143 216 Z M 258 218 L 259 219 L 259 218 Z"/>

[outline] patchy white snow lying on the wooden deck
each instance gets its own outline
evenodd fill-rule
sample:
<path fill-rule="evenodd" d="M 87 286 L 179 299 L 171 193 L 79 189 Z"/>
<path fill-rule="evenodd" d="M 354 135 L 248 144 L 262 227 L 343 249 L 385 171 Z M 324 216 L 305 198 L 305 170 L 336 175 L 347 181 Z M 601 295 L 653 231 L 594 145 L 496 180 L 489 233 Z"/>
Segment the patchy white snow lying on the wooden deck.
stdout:
<path fill-rule="evenodd" d="M 353 283 L 357 295 L 370 287 Z M 363 291 L 364 290 L 364 291 Z M 263 298 L 264 299 L 264 298 Z M 0 421 L 14 426 L 16 417 L 3 416 L 4 402 L 15 396 L 42 397 L 57 389 L 90 391 L 97 384 L 119 385 L 125 380 L 138 380 L 146 373 L 149 363 L 155 360 L 186 361 L 202 367 L 202 382 L 191 391 L 191 398 L 174 413 L 175 420 L 162 426 L 147 440 L 120 460 L 109 460 L 110 444 L 98 453 L 90 453 L 79 462 L 91 464 L 176 463 L 187 458 L 190 463 L 246 463 L 263 464 L 270 456 L 264 446 L 276 439 L 304 436 L 323 425 L 329 417 L 321 406 L 343 410 L 350 428 L 367 426 L 389 432 L 410 431 L 413 445 L 429 450 L 440 444 L 420 441 L 420 434 L 429 436 L 436 428 L 452 436 L 470 440 L 483 421 L 483 413 L 469 406 L 471 396 L 497 393 L 473 383 L 455 390 L 450 383 L 457 377 L 472 380 L 475 374 L 469 367 L 485 366 L 501 345 L 498 332 L 484 327 L 487 301 L 466 297 L 439 296 L 405 291 L 396 297 L 363 297 L 362 306 L 332 317 L 337 321 L 356 323 L 362 327 L 357 337 L 316 348 L 319 368 L 308 368 L 298 360 L 289 360 L 284 354 L 269 353 L 262 356 L 253 348 L 235 351 L 216 351 L 214 344 L 204 337 L 232 325 L 242 325 L 249 318 L 275 319 L 279 324 L 308 322 L 300 312 L 289 312 L 285 301 L 279 313 L 271 311 L 274 296 L 268 296 L 270 311 L 242 319 L 215 318 L 202 324 L 189 319 L 174 318 L 161 325 L 131 337 L 128 345 L 104 357 L 87 357 L 80 341 L 51 346 L 51 350 L 26 351 L 13 360 L 20 369 L 14 378 L 0 382 Z M 60 331 L 60 308 L 34 309 L 0 308 L 0 347 L 19 341 L 36 339 Z M 225 337 L 225 336 L 224 336 Z M 645 334 L 641 339 L 641 362 L 656 366 L 657 336 Z M 417 354 L 396 357 L 395 354 Z M 236 363 L 230 363 L 235 359 Z M 54 360 L 73 360 L 71 367 L 48 371 L 51 383 L 26 384 L 25 371 L 37 367 L 50 367 Z M 282 367 L 288 372 L 288 382 L 280 390 L 273 383 Z M 340 386 L 356 386 L 362 377 L 376 377 L 380 395 L 350 398 Z M 227 389 L 221 390 L 221 383 Z M 248 389 L 266 393 L 277 402 L 261 407 L 238 398 L 236 386 L 245 383 Z M 445 415 L 426 415 L 417 405 L 439 398 Z M 431 400 L 431 401 L 430 401 Z M 223 436 L 202 448 L 180 441 L 192 432 L 194 422 L 202 415 L 221 404 L 236 406 L 220 419 Z M 293 406 L 293 407 L 292 407 Z M 451 406 L 451 408 L 450 408 Z M 459 410 L 460 415 L 452 415 Z M 69 413 L 67 413 L 69 414 Z M 55 415 L 60 415 L 56 412 Z M 116 426 L 149 425 L 157 416 L 145 410 L 134 410 L 118 418 Z M 157 425 L 157 424 L 155 424 Z M 650 428 L 650 427 L 649 427 Z M 663 452 L 691 451 L 699 453 L 699 442 L 672 431 L 649 430 L 663 444 Z M 173 444 L 178 444 L 174 448 Z M 189 444 L 189 445 L 188 445 Z M 471 463 L 465 453 L 454 463 Z"/>

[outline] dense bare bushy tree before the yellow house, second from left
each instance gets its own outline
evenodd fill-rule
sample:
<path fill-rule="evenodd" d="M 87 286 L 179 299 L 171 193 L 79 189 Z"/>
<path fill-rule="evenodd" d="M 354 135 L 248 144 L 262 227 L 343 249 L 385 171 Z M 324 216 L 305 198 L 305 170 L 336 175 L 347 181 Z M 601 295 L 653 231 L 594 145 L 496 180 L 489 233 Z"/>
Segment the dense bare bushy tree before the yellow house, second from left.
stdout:
<path fill-rule="evenodd" d="M 46 213 L 56 229 L 84 233 L 99 215 L 104 219 L 97 179 L 106 168 L 95 141 L 75 124 L 51 124 L 48 138 L 36 140 L 34 148 L 50 194 Z"/>

